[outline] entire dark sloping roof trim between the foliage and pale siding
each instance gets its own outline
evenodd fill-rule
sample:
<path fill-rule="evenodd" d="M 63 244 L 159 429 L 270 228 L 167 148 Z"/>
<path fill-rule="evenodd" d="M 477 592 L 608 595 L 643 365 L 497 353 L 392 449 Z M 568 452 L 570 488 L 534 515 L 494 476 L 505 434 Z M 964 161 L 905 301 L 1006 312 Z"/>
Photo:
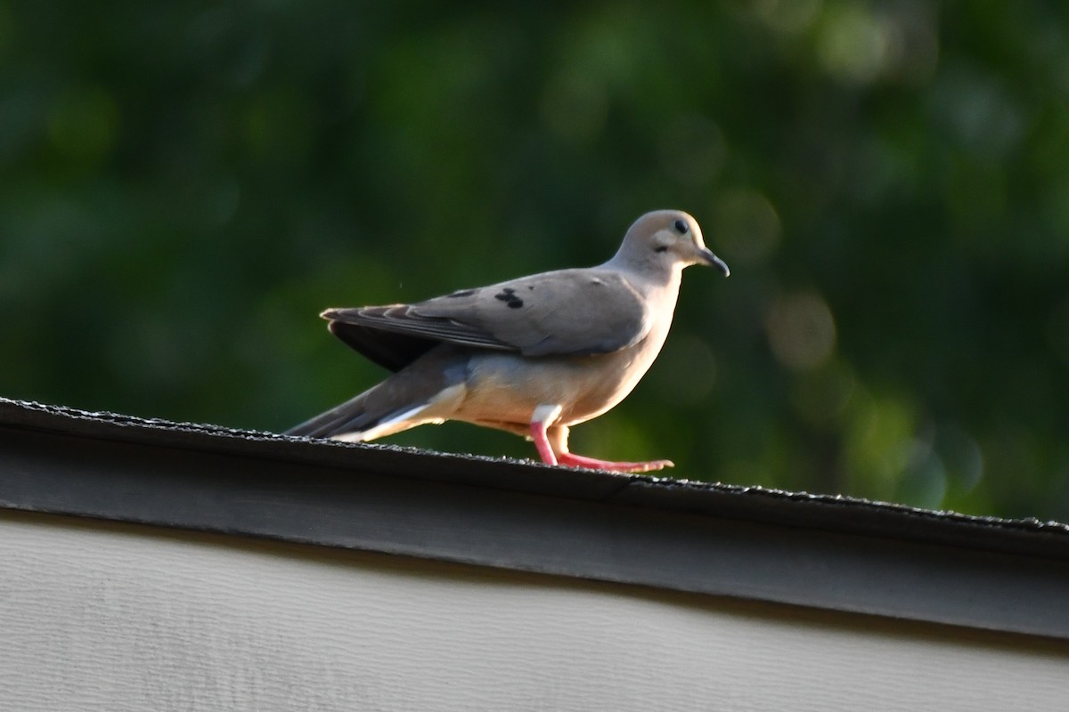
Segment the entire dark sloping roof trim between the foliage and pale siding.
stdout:
<path fill-rule="evenodd" d="M 0 508 L 1069 639 L 1069 527 L 0 399 Z"/>

